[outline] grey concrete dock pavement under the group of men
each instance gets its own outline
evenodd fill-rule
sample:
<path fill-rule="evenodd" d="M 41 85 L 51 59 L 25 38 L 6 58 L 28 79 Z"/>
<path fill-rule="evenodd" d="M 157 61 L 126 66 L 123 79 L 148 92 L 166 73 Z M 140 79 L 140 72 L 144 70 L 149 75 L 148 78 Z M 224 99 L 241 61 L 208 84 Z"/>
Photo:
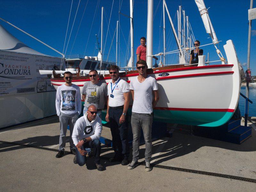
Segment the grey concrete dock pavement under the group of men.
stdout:
<path fill-rule="evenodd" d="M 55 158 L 60 132 L 57 116 L 13 126 L 0 130 L 0 191 L 256 191 L 256 122 L 250 120 L 248 125 L 252 137 L 240 145 L 175 129 L 173 137 L 153 142 L 151 163 L 157 166 L 151 172 L 143 165 L 128 170 L 109 163 L 114 152 L 104 144 L 102 172 L 94 167 L 93 157 L 82 167 L 73 163 L 72 154 Z M 110 129 L 103 127 L 101 136 L 111 139 Z M 141 145 L 140 162 L 144 149 Z"/>

